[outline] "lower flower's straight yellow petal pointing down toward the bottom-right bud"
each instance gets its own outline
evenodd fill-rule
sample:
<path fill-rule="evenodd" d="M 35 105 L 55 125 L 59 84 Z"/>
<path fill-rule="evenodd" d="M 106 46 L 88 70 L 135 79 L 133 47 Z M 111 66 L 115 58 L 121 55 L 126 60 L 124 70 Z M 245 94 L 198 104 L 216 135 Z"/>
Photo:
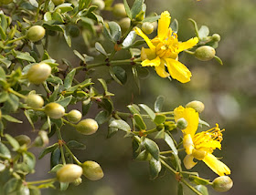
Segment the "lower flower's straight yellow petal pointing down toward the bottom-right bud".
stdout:
<path fill-rule="evenodd" d="M 227 165 L 225 165 L 212 154 L 208 154 L 205 159 L 203 159 L 203 161 L 219 176 L 224 176 L 225 174 L 229 175 L 231 172 Z"/>

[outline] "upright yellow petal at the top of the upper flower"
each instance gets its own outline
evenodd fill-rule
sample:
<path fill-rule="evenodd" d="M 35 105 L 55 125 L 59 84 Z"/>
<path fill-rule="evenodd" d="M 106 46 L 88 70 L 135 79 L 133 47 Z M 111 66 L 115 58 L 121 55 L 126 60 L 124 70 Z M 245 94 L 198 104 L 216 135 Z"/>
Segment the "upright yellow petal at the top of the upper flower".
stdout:
<path fill-rule="evenodd" d="M 158 29 L 157 35 L 158 37 L 163 40 L 168 34 L 169 26 L 171 23 L 171 16 L 168 11 L 165 11 L 161 14 L 160 19 L 158 20 Z"/>

